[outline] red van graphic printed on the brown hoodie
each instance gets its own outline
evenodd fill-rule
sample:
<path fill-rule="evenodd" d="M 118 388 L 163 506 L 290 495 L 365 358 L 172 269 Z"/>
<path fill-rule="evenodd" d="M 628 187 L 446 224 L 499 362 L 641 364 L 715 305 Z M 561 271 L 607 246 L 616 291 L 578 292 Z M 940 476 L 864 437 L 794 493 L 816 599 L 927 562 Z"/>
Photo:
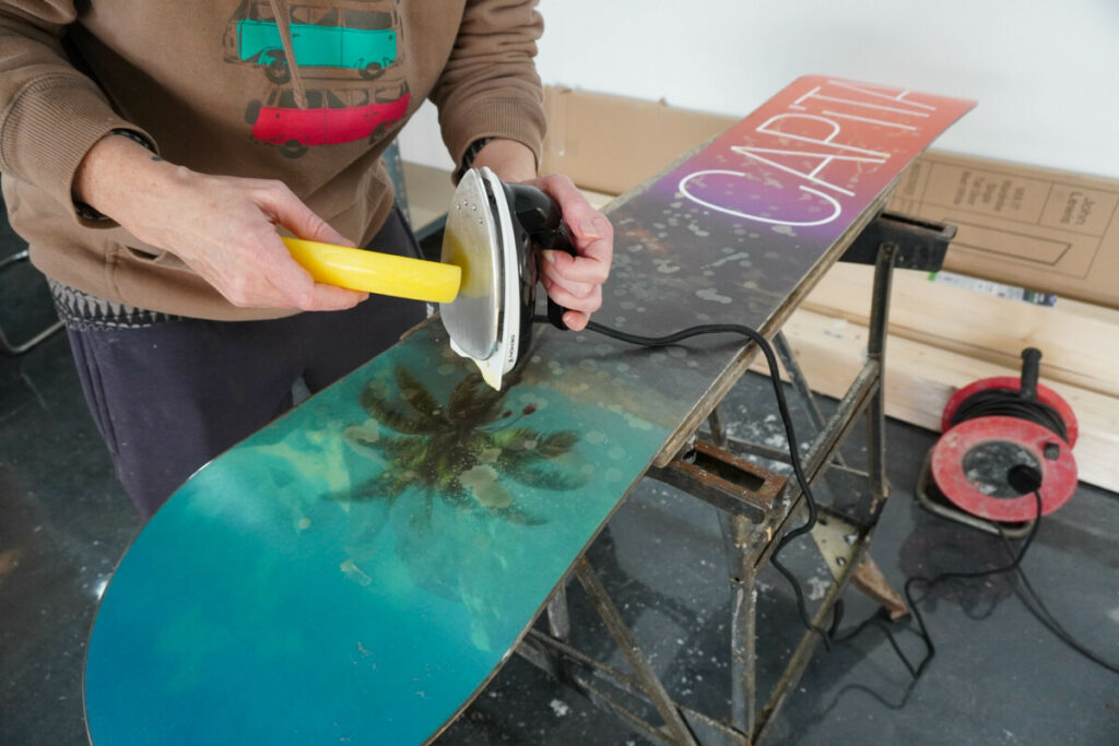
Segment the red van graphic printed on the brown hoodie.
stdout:
<path fill-rule="evenodd" d="M 375 89 L 309 89 L 307 108 L 300 108 L 290 89 L 273 91 L 267 101 L 252 101 L 245 119 L 253 138 L 280 145 L 280 152 L 299 158 L 309 145 L 376 141 L 408 111 L 406 83 Z"/>

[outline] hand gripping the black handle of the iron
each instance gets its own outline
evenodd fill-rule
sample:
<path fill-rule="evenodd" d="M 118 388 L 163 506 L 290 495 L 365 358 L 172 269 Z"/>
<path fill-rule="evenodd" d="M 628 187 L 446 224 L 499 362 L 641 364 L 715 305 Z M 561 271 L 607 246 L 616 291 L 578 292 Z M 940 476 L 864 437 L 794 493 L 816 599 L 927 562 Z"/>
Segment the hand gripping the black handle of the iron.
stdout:
<path fill-rule="evenodd" d="M 526 181 L 560 204 L 577 256 L 562 251 L 543 252 L 540 281 L 548 296 L 567 309 L 568 329 L 586 328 L 591 314 L 602 306 L 602 285 L 610 276 L 614 255 L 614 229 L 606 216 L 594 209 L 565 176 L 553 174 Z"/>

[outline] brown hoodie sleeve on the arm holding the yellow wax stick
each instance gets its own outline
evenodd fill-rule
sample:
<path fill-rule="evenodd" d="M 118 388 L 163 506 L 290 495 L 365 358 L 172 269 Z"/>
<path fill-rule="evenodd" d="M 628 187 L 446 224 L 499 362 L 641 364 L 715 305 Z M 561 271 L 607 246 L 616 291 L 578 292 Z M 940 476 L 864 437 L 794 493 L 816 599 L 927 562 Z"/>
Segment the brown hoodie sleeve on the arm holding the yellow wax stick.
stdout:
<path fill-rule="evenodd" d="M 77 13 L 68 0 L 0 1 L 0 172 L 28 181 L 64 205 L 74 220 L 74 172 L 114 129 L 141 129 L 69 63 L 62 38 Z"/>

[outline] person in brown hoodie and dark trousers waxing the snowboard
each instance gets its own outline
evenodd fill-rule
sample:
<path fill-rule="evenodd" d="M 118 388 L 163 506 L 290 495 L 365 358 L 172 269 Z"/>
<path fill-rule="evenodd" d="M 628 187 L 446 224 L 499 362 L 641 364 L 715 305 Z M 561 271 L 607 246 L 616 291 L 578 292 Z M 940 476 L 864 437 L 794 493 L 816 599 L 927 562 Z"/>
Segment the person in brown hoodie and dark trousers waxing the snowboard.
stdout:
<path fill-rule="evenodd" d="M 585 327 L 612 230 L 545 122 L 535 0 L 0 1 L 0 174 L 91 412 L 144 518 L 196 469 L 375 356 L 423 305 L 314 283 L 280 232 L 416 254 L 382 154 L 430 98 L 458 163 L 555 197 Z"/>

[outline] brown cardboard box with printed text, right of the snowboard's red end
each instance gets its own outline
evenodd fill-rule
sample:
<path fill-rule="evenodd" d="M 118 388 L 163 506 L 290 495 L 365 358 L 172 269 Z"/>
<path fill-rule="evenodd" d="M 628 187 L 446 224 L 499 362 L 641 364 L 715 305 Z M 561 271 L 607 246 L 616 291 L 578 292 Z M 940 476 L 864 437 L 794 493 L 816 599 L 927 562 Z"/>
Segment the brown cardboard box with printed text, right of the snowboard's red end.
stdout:
<path fill-rule="evenodd" d="M 957 227 L 946 270 L 1119 308 L 1119 181 L 930 151 L 890 208 Z"/>

